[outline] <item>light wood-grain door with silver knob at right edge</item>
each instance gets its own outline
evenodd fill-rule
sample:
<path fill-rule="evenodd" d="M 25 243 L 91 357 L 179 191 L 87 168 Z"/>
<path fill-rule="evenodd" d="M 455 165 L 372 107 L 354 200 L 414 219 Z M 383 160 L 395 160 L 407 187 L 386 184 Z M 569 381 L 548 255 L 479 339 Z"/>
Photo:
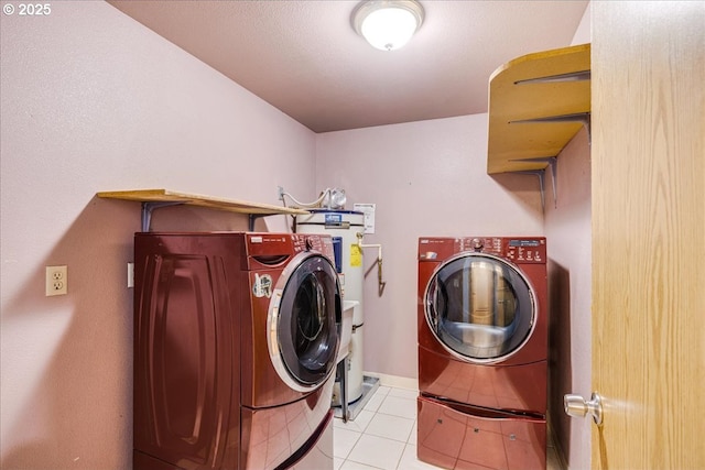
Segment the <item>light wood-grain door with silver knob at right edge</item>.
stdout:
<path fill-rule="evenodd" d="M 592 8 L 592 463 L 704 469 L 705 2 Z"/>

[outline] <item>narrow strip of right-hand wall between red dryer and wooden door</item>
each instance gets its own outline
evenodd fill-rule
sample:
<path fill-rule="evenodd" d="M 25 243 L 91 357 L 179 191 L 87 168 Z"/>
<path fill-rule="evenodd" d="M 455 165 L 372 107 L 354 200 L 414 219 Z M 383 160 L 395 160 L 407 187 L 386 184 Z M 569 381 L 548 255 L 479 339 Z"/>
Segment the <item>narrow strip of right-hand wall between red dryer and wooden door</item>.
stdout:
<path fill-rule="evenodd" d="M 573 44 L 590 42 L 590 7 Z M 590 147 L 582 130 L 557 160 L 557 207 L 546 207 L 551 305 L 549 420 L 571 469 L 590 468 L 592 420 L 570 418 L 563 395 L 592 393 Z M 546 187 L 552 186 L 551 177 Z M 552 199 L 552 195 L 551 195 Z"/>

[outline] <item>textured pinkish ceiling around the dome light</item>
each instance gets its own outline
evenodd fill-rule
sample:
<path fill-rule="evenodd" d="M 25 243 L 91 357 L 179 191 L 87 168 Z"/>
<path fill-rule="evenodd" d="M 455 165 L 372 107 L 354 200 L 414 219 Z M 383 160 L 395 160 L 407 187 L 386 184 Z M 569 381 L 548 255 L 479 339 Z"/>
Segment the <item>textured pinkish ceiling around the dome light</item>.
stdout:
<path fill-rule="evenodd" d="M 378 51 L 357 1 L 109 0 L 315 132 L 487 111 L 495 69 L 568 46 L 587 0 L 425 0 L 409 44 Z"/>

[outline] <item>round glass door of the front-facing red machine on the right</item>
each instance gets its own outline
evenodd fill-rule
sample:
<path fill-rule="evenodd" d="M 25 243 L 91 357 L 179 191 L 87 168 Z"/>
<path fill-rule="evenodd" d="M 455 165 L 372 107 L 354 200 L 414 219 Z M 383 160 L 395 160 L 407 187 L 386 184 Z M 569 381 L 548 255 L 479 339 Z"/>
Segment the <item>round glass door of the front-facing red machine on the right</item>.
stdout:
<path fill-rule="evenodd" d="M 498 362 L 519 351 L 535 325 L 535 295 L 513 264 L 462 253 L 441 264 L 425 292 L 426 323 L 453 356 Z"/>

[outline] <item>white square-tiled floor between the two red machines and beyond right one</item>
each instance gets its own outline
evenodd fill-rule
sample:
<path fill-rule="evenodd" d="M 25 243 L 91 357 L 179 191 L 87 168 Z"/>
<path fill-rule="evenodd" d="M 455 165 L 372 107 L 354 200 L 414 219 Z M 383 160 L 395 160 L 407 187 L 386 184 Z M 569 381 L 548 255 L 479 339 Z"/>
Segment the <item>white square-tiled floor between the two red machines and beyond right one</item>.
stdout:
<path fill-rule="evenodd" d="M 437 469 L 416 459 L 417 394 L 379 386 L 355 420 L 334 419 L 334 469 Z M 547 470 L 562 470 L 553 447 L 546 460 Z"/>

